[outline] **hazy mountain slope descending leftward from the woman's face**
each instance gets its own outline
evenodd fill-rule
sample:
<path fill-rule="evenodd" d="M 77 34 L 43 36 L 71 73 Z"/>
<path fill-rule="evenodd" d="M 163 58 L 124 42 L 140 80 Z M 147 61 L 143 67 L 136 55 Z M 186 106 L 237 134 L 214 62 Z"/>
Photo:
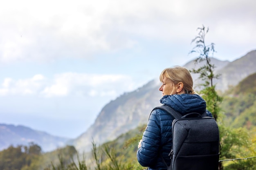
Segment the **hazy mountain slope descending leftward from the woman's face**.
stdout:
<path fill-rule="evenodd" d="M 108 103 L 94 124 L 74 141 L 79 151 L 88 151 L 92 139 L 102 144 L 118 137 L 140 124 L 145 124 L 154 106 L 160 105 L 159 80 L 152 80 L 131 93 L 125 93 Z"/>

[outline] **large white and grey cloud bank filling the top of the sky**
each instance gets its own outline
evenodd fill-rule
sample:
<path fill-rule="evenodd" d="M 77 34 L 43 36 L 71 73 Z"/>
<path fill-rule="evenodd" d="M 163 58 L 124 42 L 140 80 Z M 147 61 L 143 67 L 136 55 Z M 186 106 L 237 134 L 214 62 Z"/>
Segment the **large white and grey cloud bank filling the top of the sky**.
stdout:
<path fill-rule="evenodd" d="M 191 40 L 193 29 L 204 23 L 227 43 L 234 37 L 237 43 L 252 42 L 255 5 L 254 0 L 2 1 L 0 61 L 91 59 L 133 48 L 140 38 Z"/>

